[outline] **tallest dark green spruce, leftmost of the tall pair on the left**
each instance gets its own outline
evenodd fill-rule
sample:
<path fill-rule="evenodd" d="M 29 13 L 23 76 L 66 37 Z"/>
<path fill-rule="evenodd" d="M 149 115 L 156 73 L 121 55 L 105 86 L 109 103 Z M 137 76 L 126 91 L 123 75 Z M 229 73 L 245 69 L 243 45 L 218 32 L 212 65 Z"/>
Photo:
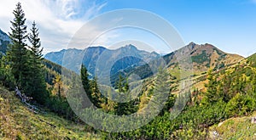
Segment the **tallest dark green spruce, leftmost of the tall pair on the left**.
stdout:
<path fill-rule="evenodd" d="M 15 76 L 15 82 L 18 87 L 24 89 L 27 85 L 26 67 L 27 65 L 27 49 L 26 49 L 26 18 L 21 4 L 17 3 L 13 12 L 15 19 L 11 22 L 11 32 L 9 33 L 12 43 L 9 45 L 8 57 L 10 61 L 10 67 L 13 75 Z"/>

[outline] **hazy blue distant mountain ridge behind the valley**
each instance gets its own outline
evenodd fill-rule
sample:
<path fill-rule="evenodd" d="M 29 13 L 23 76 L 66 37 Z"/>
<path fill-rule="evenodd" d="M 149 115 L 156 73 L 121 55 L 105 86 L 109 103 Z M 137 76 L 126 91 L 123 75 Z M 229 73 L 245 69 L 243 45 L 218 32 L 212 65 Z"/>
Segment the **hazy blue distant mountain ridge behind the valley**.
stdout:
<path fill-rule="evenodd" d="M 65 54 L 65 63 L 62 59 Z M 84 58 L 82 63 L 88 69 L 90 76 L 112 75 L 119 70 L 125 70 L 128 67 L 143 65 L 160 57 L 158 53 L 148 53 L 138 50 L 133 45 L 126 45 L 118 49 L 108 49 L 103 47 L 90 47 L 84 50 L 75 48 L 64 49 L 60 52 L 47 53 L 44 58 L 49 59 L 56 64 L 61 64 L 69 70 L 79 73 L 80 58 Z M 101 70 L 101 71 L 99 71 Z M 110 70 L 110 71 L 108 71 Z"/>

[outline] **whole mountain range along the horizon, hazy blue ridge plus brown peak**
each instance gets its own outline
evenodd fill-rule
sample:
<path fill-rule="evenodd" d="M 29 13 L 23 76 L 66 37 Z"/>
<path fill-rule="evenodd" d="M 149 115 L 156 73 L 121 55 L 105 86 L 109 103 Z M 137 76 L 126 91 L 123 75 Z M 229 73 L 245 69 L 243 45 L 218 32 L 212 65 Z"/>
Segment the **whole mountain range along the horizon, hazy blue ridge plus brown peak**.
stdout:
<path fill-rule="evenodd" d="M 67 61 L 65 65 L 62 64 L 64 54 L 65 57 L 67 57 L 65 59 Z M 49 59 L 56 64 L 62 64 L 62 66 L 65 66 L 67 69 L 79 73 L 81 62 L 78 62 L 78 58 L 83 57 L 82 63 L 87 67 L 91 76 L 95 76 L 97 67 L 97 70 L 104 71 L 104 75 L 108 75 L 108 70 L 111 70 L 110 75 L 114 75 L 117 72 L 125 75 L 130 74 L 131 71 L 140 70 L 141 73 L 143 73 L 143 78 L 145 78 L 152 75 L 152 73 L 148 71 L 149 68 L 146 68 L 148 67 L 148 62 L 162 57 L 166 60 L 168 69 L 174 71 L 178 69 L 177 55 L 180 54 L 191 58 L 195 74 L 206 72 L 209 68 L 219 70 L 244 59 L 238 54 L 224 53 L 211 44 L 206 43 L 199 45 L 195 44 L 195 42 L 190 42 L 187 46 L 164 56 L 160 56 L 160 54 L 155 52 L 148 53 L 138 50 L 135 46 L 130 44 L 115 50 L 103 47 L 90 47 L 84 50 L 75 48 L 63 49 L 60 52 L 47 53 L 44 59 Z M 113 62 L 115 64 L 113 64 Z M 109 68 L 111 64 L 113 66 Z M 100 76 L 103 74 L 98 72 L 96 75 Z"/>

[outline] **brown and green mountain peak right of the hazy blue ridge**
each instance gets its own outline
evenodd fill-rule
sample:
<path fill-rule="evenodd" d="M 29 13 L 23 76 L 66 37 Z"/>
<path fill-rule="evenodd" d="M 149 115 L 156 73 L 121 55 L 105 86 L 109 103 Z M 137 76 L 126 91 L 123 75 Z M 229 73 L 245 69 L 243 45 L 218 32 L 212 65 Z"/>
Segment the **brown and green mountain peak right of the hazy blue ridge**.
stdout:
<path fill-rule="evenodd" d="M 186 52 L 185 50 L 189 51 Z M 224 53 L 208 43 L 199 45 L 195 44 L 195 42 L 190 42 L 189 45 L 184 48 L 180 48 L 177 51 L 164 56 L 170 69 L 175 69 L 175 67 L 177 67 L 176 56 L 181 54 L 190 56 L 195 73 L 205 72 L 210 68 L 212 70 L 219 70 L 230 64 L 236 64 L 241 59 L 244 59 L 237 54 Z"/>

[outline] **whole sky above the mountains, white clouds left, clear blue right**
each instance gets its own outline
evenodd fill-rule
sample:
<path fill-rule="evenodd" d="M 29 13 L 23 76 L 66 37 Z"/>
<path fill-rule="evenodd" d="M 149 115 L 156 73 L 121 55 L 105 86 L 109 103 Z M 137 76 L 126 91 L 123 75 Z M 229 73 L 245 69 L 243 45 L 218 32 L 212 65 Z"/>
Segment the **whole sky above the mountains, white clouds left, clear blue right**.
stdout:
<path fill-rule="evenodd" d="M 256 53 L 256 0 L 19 1 L 26 14 L 28 29 L 33 20 L 38 24 L 44 53 L 67 48 L 72 37 L 84 24 L 101 14 L 122 8 L 143 9 L 159 15 L 176 29 L 185 44 L 211 43 L 224 52 L 237 53 L 244 57 Z M 9 21 L 14 18 L 12 11 L 17 2 L 18 0 L 1 2 L 0 29 L 2 31 L 10 31 Z M 106 23 L 108 20 L 102 22 L 102 24 Z M 96 25 L 88 30 L 94 34 L 98 33 Z M 100 36 L 94 45 L 112 48 L 116 44 L 122 44 L 120 42 L 129 43 L 130 40 L 143 36 L 143 39 L 136 41 L 139 42 L 138 45 L 147 44 L 152 48 L 148 51 L 166 53 L 165 44 L 147 34 L 147 32 L 126 28 L 108 31 Z M 91 39 L 89 36 L 86 37 Z M 119 38 L 119 42 L 114 38 Z"/>

